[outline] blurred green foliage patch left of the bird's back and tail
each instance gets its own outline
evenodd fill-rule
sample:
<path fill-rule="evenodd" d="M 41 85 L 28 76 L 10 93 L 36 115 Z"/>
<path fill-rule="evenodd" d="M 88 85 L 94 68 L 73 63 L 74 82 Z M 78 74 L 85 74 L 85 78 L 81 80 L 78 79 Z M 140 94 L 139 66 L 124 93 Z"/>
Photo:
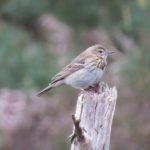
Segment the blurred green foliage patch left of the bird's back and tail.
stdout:
<path fill-rule="evenodd" d="M 0 33 L 0 87 L 35 88 L 48 83 L 56 68 L 46 47 L 17 26 L 1 22 Z"/>

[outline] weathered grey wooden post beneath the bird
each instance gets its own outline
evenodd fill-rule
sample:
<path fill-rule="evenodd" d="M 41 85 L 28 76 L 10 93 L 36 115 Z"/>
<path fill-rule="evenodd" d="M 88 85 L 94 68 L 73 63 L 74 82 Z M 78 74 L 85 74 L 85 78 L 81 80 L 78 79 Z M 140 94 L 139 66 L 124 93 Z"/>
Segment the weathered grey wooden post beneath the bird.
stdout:
<path fill-rule="evenodd" d="M 104 83 L 95 90 L 83 91 L 78 97 L 71 150 L 109 150 L 117 90 Z"/>

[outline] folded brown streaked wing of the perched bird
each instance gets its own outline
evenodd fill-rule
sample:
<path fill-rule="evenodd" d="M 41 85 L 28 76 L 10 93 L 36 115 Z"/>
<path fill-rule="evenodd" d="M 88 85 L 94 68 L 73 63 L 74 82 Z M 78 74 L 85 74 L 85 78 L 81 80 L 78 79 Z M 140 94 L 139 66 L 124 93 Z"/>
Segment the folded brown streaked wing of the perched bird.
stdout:
<path fill-rule="evenodd" d="M 55 83 L 59 80 L 62 80 L 64 78 L 66 78 L 67 76 L 69 76 L 70 74 L 84 68 L 84 63 L 85 63 L 86 58 L 87 58 L 87 56 L 84 55 L 84 53 L 77 56 L 69 65 L 64 67 L 58 74 L 56 74 L 52 78 L 51 84 Z"/>

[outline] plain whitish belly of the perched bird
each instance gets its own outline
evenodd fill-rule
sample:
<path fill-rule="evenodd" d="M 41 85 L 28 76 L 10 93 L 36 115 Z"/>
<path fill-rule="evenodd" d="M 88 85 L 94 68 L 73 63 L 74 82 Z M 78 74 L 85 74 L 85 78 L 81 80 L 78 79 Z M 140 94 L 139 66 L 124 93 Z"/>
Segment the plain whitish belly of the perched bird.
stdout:
<path fill-rule="evenodd" d="M 81 69 L 65 79 L 65 83 L 75 87 L 77 89 L 86 89 L 89 86 L 93 86 L 96 83 L 99 83 L 103 70 L 97 69 L 89 71 L 87 69 Z"/>

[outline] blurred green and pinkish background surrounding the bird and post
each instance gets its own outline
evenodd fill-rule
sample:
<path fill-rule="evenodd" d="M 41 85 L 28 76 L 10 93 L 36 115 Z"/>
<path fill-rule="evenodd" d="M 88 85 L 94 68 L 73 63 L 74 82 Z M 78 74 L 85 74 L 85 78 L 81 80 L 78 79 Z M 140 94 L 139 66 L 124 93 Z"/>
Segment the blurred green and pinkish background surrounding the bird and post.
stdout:
<path fill-rule="evenodd" d="M 117 86 L 111 150 L 150 150 L 149 0 L 0 0 L 0 150 L 67 150 L 78 90 L 37 98 L 88 46 L 117 53 L 103 81 Z"/>

